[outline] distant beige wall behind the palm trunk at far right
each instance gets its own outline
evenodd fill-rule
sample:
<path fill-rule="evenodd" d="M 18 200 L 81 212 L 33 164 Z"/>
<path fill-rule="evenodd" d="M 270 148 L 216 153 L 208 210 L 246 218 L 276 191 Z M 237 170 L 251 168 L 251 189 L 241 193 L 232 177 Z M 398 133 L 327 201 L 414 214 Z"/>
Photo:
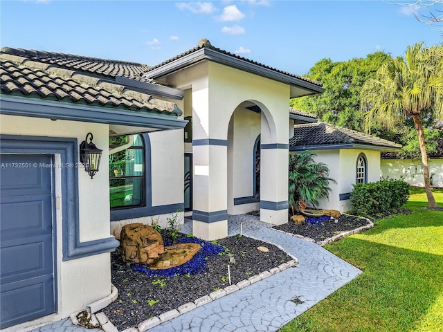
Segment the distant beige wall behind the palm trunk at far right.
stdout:
<path fill-rule="evenodd" d="M 404 181 L 416 187 L 424 187 L 422 160 L 381 159 L 381 176 L 383 178 L 404 178 Z M 433 187 L 443 187 L 443 158 L 428 159 L 429 174 Z"/>

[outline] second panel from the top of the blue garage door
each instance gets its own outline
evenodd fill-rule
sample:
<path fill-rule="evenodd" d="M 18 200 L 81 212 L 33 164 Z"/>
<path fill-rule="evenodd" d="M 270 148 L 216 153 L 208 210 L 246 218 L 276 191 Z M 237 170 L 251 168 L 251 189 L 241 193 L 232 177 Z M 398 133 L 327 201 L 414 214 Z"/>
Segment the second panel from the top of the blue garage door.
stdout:
<path fill-rule="evenodd" d="M 52 213 L 48 194 L 2 197 L 1 234 L 3 237 L 29 237 L 35 232 L 51 233 L 52 224 L 45 221 Z"/>

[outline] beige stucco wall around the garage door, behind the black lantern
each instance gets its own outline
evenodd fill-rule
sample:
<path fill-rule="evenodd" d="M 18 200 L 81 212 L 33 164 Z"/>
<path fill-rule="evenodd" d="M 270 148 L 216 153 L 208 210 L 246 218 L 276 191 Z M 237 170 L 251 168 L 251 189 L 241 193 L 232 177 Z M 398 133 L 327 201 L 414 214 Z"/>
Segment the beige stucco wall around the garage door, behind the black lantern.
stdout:
<path fill-rule="evenodd" d="M 109 133 L 107 124 L 74 122 L 0 115 L 0 132 L 8 135 L 51 136 L 77 138 L 78 144 L 88 132 L 93 142 L 103 150 L 100 170 L 91 180 L 84 169 L 78 168 L 80 241 L 110 237 L 109 230 Z M 57 162 L 57 156 L 55 156 Z M 80 161 L 80 160 L 79 160 Z M 57 165 L 57 164 L 56 164 Z M 61 197 L 60 168 L 55 167 L 55 191 Z M 60 204 L 62 207 L 63 204 Z M 46 320 L 60 320 L 73 311 L 84 309 L 87 304 L 111 293 L 109 253 L 93 255 L 71 261 L 62 261 L 61 211 L 57 210 L 57 314 Z M 81 294 L 81 296 L 79 295 Z M 44 322 L 44 320 L 42 321 Z"/>

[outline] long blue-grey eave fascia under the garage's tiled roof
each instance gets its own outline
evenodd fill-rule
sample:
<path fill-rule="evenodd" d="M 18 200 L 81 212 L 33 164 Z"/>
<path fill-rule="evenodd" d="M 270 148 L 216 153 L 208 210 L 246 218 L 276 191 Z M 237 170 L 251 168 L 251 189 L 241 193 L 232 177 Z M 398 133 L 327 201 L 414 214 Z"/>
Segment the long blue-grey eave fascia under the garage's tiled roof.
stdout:
<path fill-rule="evenodd" d="M 156 116 L 146 112 L 44 102 L 31 98 L 0 96 L 0 109 L 1 114 L 8 116 L 119 124 L 155 129 L 181 129 L 188 123 L 188 121 L 177 119 L 175 116 Z"/>

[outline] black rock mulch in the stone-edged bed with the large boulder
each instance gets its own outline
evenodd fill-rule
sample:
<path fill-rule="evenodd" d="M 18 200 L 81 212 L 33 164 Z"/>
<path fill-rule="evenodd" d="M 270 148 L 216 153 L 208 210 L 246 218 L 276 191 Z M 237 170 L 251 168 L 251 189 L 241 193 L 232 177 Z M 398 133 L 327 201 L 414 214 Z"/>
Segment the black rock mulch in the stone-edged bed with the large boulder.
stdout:
<path fill-rule="evenodd" d="M 112 252 L 111 279 L 118 288 L 118 299 L 102 312 L 122 331 L 229 286 L 228 262 L 232 259 L 235 262 L 230 263 L 231 284 L 291 260 L 279 248 L 248 237 L 226 237 L 217 244 L 223 246 L 225 252 L 207 259 L 206 272 L 173 277 L 148 277 L 120 259 L 118 251 Z M 269 252 L 257 250 L 258 246 L 268 248 Z"/>

